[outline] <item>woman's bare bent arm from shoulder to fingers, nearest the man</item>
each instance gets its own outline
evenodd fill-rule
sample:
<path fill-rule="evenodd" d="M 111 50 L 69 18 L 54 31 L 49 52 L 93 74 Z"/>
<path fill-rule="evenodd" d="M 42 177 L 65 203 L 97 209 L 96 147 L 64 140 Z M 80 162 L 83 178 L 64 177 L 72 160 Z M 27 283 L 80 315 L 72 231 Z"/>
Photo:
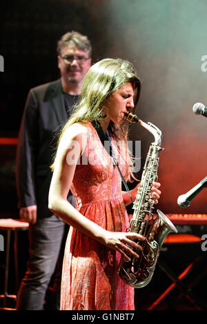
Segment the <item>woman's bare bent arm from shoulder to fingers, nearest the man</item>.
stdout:
<path fill-rule="evenodd" d="M 86 128 L 82 125 L 74 124 L 63 134 L 55 159 L 48 207 L 70 226 L 112 250 L 119 251 L 126 259 L 129 258 L 125 252 L 139 257 L 132 247 L 141 250 L 141 246 L 132 240 L 144 241 L 143 236 L 137 233 L 109 232 L 83 216 L 67 200 L 77 161 L 85 145 Z M 72 156 L 73 159 L 68 159 L 68 156 Z"/>

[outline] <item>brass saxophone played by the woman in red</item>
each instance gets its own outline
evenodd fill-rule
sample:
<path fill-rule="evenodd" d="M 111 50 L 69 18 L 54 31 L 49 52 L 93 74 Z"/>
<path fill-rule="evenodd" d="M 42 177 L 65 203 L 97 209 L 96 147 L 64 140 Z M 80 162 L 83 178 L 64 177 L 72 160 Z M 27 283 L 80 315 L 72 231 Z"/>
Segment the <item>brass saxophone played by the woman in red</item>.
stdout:
<path fill-rule="evenodd" d="M 150 196 L 150 191 L 152 181 L 157 181 L 158 155 L 159 151 L 163 150 L 160 146 L 161 130 L 152 123 L 144 123 L 135 114 L 125 113 L 125 115 L 128 121 L 139 123 L 155 137 L 155 141 L 151 143 L 148 150 L 144 171 L 141 175 L 141 182 L 133 203 L 134 213 L 130 221 L 130 227 L 127 230 L 127 232 L 141 234 L 146 237 L 146 240 L 139 243 L 142 246 L 142 251 L 136 250 L 137 254 L 139 254 L 139 259 L 130 256 L 130 261 L 126 261 L 121 256 L 118 266 L 118 274 L 121 279 L 127 285 L 140 288 L 150 283 L 155 271 L 161 245 L 164 243 L 166 236 L 170 232 L 177 233 L 177 229 L 160 210 L 157 210 L 158 216 L 156 219 L 154 219 L 152 214 L 154 202 Z"/>

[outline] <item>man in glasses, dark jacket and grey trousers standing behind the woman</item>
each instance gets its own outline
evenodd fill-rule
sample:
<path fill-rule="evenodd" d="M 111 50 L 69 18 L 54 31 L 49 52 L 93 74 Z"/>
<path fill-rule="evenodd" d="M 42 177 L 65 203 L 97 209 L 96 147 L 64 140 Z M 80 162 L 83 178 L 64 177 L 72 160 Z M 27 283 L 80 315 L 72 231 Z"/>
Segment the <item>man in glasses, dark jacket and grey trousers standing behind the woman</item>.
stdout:
<path fill-rule="evenodd" d="M 17 146 L 17 193 L 19 215 L 30 223 L 30 258 L 17 296 L 17 310 L 43 310 L 55 272 L 59 276 L 55 280 L 57 300 L 52 308 L 59 309 L 61 275 L 57 263 L 62 265 L 68 225 L 48 209 L 50 165 L 57 144 L 55 134 L 79 99 L 83 78 L 91 65 L 91 52 L 86 36 L 73 31 L 63 34 L 57 43 L 61 78 L 32 88 L 28 94 Z M 68 200 L 74 201 L 71 193 Z"/>

